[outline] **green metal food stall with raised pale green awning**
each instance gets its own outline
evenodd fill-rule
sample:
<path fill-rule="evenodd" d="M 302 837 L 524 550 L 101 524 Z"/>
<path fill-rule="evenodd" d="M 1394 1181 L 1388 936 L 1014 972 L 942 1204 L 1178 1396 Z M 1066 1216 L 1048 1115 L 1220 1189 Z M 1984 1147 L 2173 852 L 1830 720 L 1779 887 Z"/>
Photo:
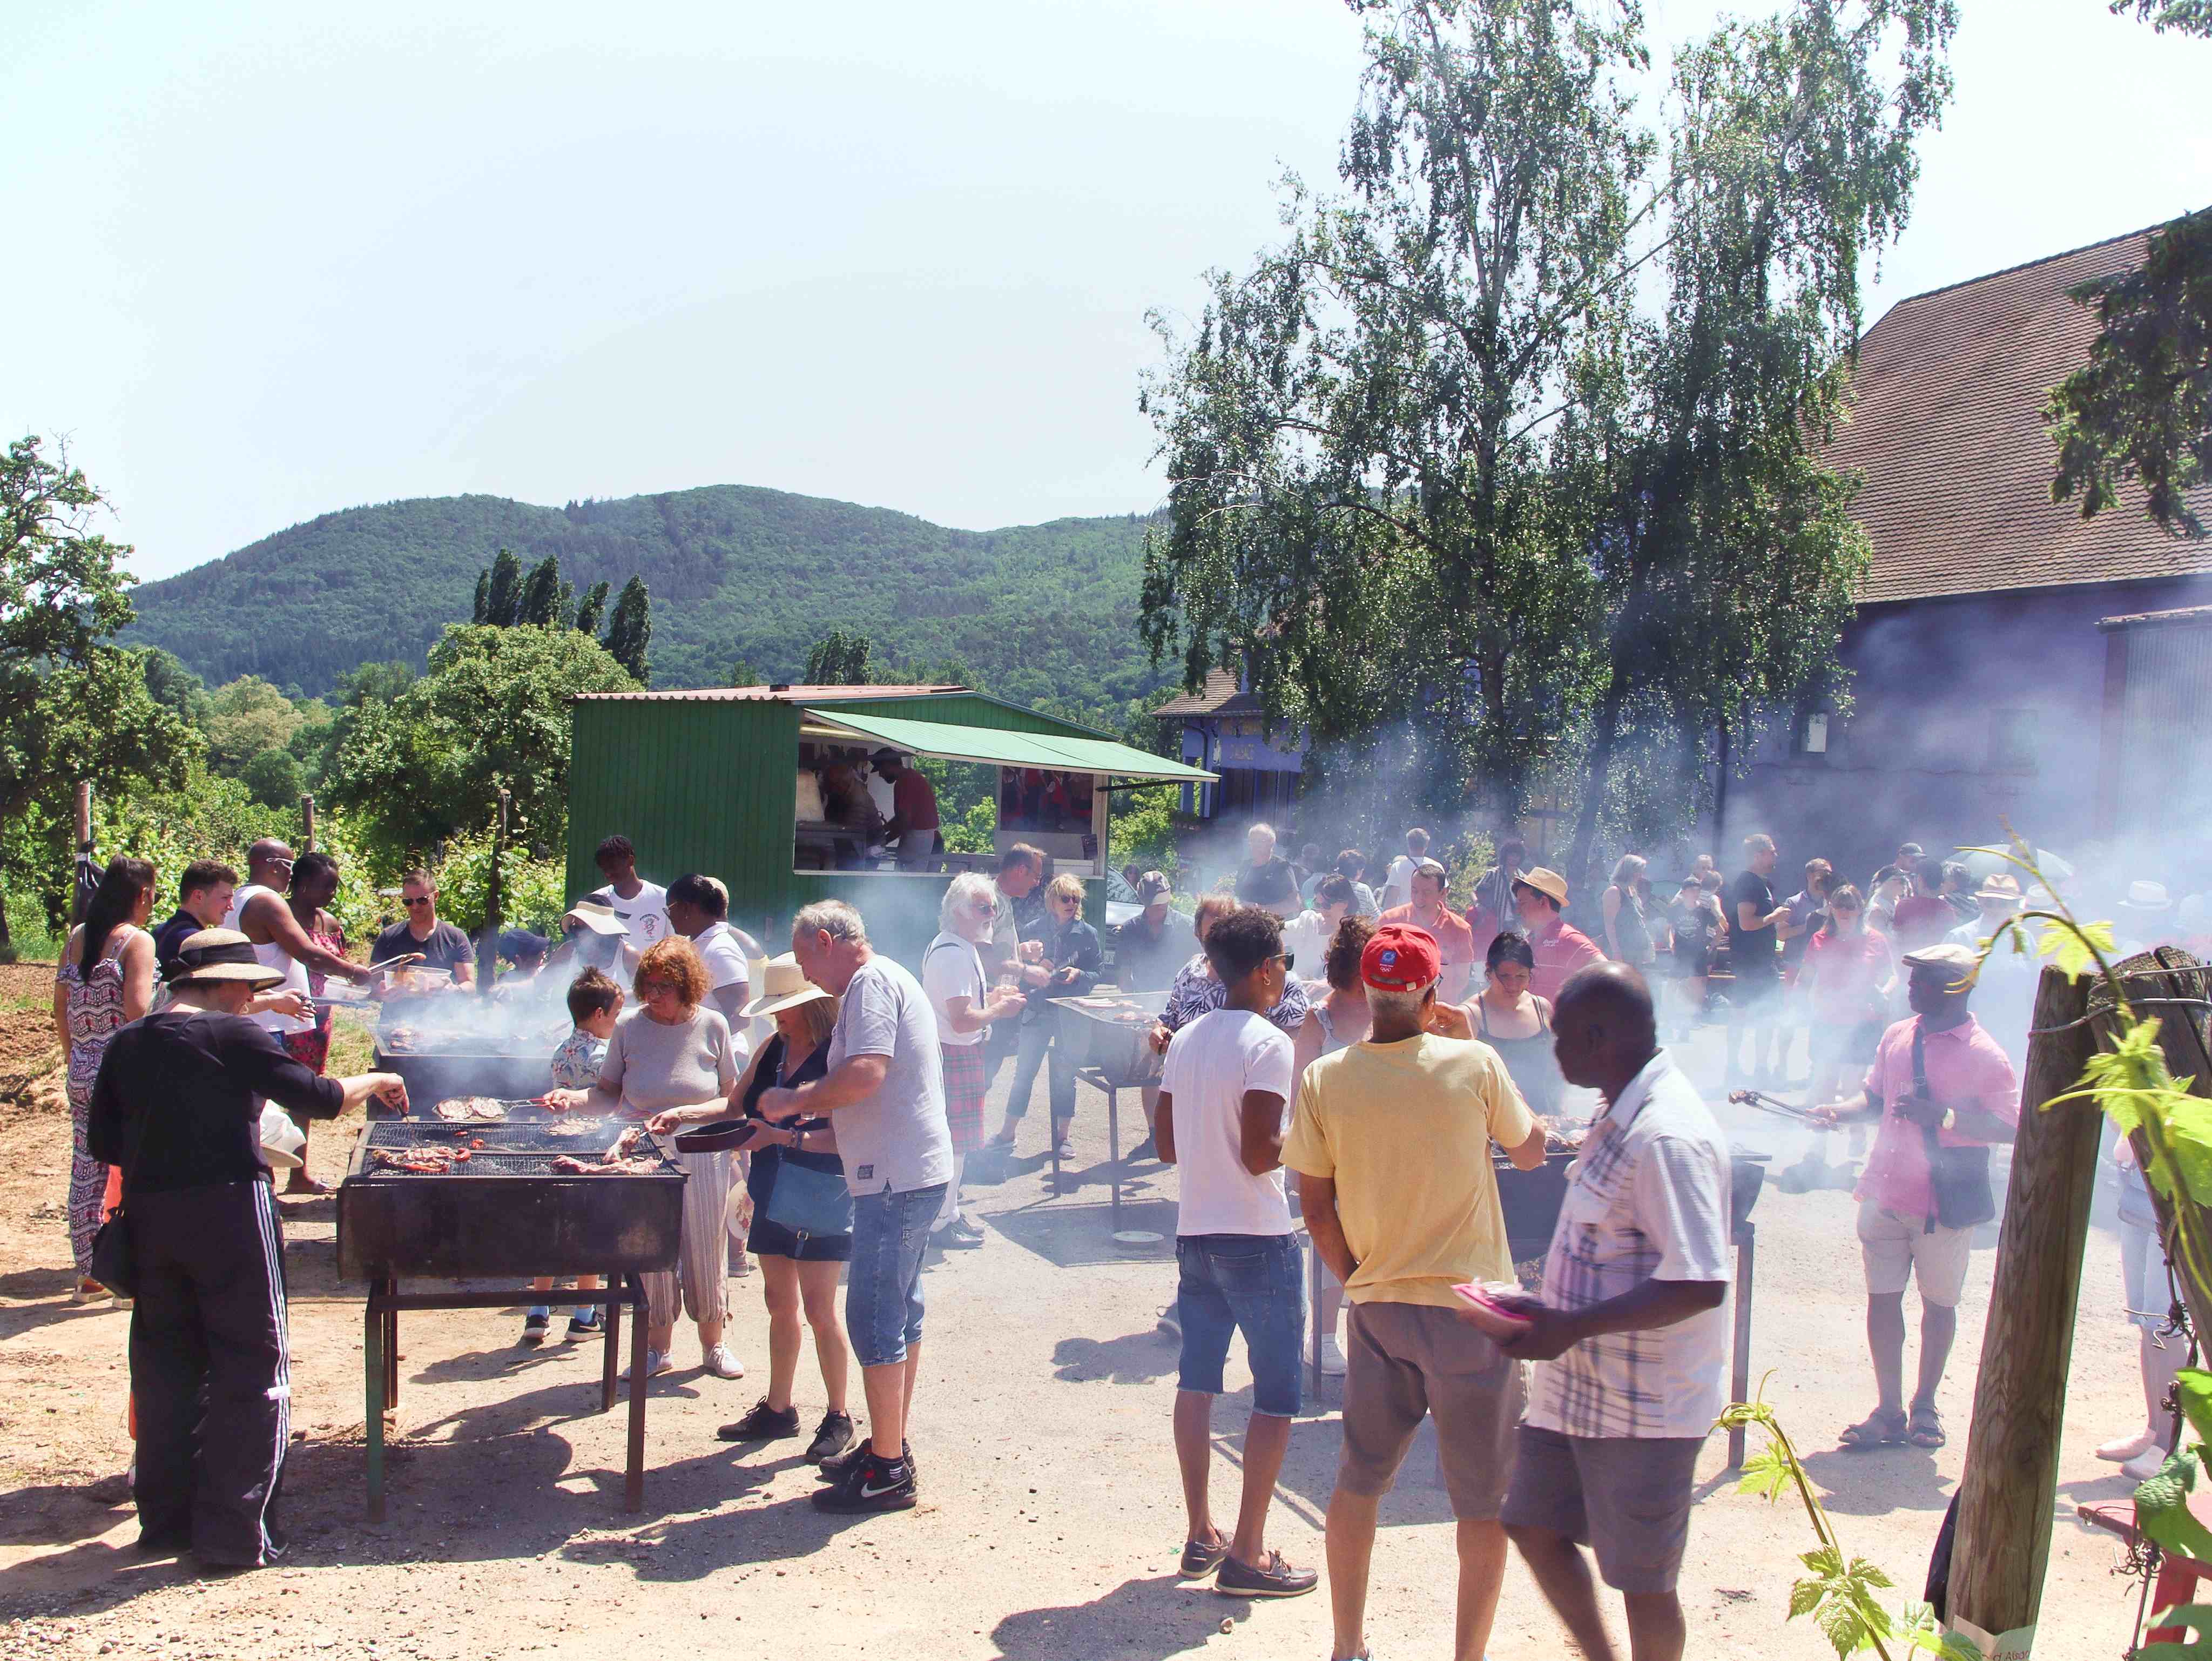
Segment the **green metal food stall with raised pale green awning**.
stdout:
<path fill-rule="evenodd" d="M 1093 829 L 1042 838 L 1000 827 L 998 845 L 1046 845 L 1055 869 L 1091 880 L 1104 911 L 1110 869 L 1106 781 L 1186 783 L 1214 774 L 1146 754 L 1104 732 L 964 686 L 734 686 L 688 692 L 584 692 L 568 748 L 568 898 L 599 887 L 593 849 L 622 832 L 653 882 L 684 871 L 721 878 L 730 920 L 783 949 L 810 900 L 849 900 L 887 951 L 914 958 L 936 933 L 953 869 L 998 869 L 995 854 L 947 856 L 947 869 L 801 869 L 812 863 L 799 818 L 803 745 L 894 748 L 1093 781 Z M 1057 843 L 1057 845 L 1055 845 Z"/>

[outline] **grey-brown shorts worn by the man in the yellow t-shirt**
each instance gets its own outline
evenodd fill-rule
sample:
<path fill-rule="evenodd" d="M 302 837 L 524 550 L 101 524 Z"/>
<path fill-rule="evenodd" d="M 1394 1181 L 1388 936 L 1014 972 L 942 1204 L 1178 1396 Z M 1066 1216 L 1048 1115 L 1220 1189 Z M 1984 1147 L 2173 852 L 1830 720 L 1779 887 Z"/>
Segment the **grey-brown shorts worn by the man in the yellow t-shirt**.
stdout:
<path fill-rule="evenodd" d="M 1354 1303 L 1345 1336 L 1336 1486 L 1369 1500 L 1389 1493 L 1422 1415 L 1433 1415 L 1451 1515 L 1495 1522 L 1513 1477 L 1520 1362 L 1451 1309 L 1427 1303 Z"/>

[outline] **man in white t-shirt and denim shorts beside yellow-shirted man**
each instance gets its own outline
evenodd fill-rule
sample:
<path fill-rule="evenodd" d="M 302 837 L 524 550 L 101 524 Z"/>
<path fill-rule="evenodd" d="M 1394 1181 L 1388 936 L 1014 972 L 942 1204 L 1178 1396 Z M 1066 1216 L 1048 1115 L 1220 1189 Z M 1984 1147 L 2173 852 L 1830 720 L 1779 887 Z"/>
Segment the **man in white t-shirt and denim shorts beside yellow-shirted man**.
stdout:
<path fill-rule="evenodd" d="M 1183 1469 L 1186 1579 L 1214 1575 L 1232 1597 L 1298 1597 L 1318 1575 L 1267 1550 L 1267 1500 L 1298 1413 L 1305 1274 L 1283 1199 L 1290 1124 L 1290 1040 L 1267 1020 L 1283 1000 L 1283 924 L 1237 907 L 1206 933 L 1206 960 L 1225 989 L 1221 1009 L 1168 1044 L 1152 1135 L 1179 1166 L 1175 1219 L 1183 1354 L 1175 1396 L 1175 1458 Z M 1212 1409 L 1230 1338 L 1243 1331 L 1252 1365 L 1252 1422 L 1243 1449 L 1243 1504 L 1234 1537 L 1214 1528 L 1206 1482 Z"/>

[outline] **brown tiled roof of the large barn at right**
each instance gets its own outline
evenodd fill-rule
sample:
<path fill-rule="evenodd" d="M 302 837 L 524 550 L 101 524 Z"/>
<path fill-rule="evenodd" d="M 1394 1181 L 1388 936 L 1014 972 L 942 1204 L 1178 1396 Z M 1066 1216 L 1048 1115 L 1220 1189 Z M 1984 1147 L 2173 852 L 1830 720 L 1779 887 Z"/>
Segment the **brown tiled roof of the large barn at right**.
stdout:
<path fill-rule="evenodd" d="M 2146 243 L 2135 230 L 1916 294 L 1867 332 L 1856 407 L 1827 451 L 1865 473 L 1851 504 L 1874 537 L 1860 604 L 2212 571 L 2212 540 L 2159 531 L 2135 487 L 2095 520 L 2051 500 L 2044 398 L 2097 336 L 2066 290 L 2130 270 Z"/>

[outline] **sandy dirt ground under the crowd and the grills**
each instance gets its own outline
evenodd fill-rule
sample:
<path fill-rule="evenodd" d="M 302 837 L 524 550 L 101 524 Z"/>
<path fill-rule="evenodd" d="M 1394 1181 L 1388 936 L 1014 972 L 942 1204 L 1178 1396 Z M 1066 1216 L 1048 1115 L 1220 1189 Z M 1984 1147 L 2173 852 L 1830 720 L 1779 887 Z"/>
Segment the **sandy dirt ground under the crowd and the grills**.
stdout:
<path fill-rule="evenodd" d="M 0 1053 L 7 1053 L 0 1044 Z M 1688 1046 L 1719 1066 L 1719 1037 Z M 1002 1077 L 1002 1086 L 1011 1068 Z M 1719 1090 L 1712 1090 L 1719 1099 Z M 995 1104 L 993 1104 L 995 1106 Z M 1124 1141 L 1137 1132 L 1124 1097 Z M 1736 1112 L 1723 1108 L 1723 1112 Z M 998 1115 L 993 1112 L 993 1126 Z M 62 1199 L 69 1124 L 53 1082 L 0 1101 L 0 1652 L 177 1657 L 604 1657 L 653 1637 L 659 1652 L 816 1657 L 1099 1657 L 1161 1661 L 1325 1657 L 1325 1588 L 1250 1606 L 1175 1579 L 1181 1500 L 1168 1440 L 1175 1345 L 1155 1327 L 1172 1296 L 1164 1247 L 1126 1256 L 1108 1239 L 1104 1101 L 1086 1090 L 1082 1188 L 1053 1199 L 1035 1157 L 971 1183 L 989 1239 L 927 1278 L 927 1369 L 914 1449 L 914 1513 L 836 1519 L 814 1511 L 796 1442 L 734 1449 L 714 1424 L 761 1391 L 759 1278 L 730 1283 L 730 1343 L 754 1378 L 699 1371 L 677 1338 L 672 1376 L 648 1411 L 646 1508 L 622 1511 L 624 1415 L 599 1415 L 597 1347 L 522 1349 L 511 1312 L 403 1316 L 400 1420 L 389 1455 L 389 1522 L 363 1504 L 358 1287 L 334 1272 L 332 1201 L 288 1201 L 294 1424 L 285 1475 L 292 1555 L 281 1568 L 204 1579 L 190 1559 L 148 1559 L 115 1477 L 128 1460 L 128 1316 L 71 1307 Z M 1745 1143 L 1798 1152 L 1776 1121 L 1730 1119 Z M 1042 1137 L 1042 1104 L 1024 1148 Z M 334 1177 L 356 1124 L 316 1128 L 312 1163 Z M 1172 1236 L 1175 1174 L 1137 1168 L 1124 1228 Z M 1851 1203 L 1781 1194 L 1754 1214 L 1754 1378 L 1778 1402 L 1847 1550 L 1918 1584 L 1953 1493 L 1980 1360 L 1993 1241 L 1975 1252 L 1938 1453 L 1834 1451 L 1871 1404 L 1860 1340 L 1863 1283 Z M 2084 1274 L 2039 1654 L 2121 1654 L 2135 1584 L 2117 1553 L 2073 1517 L 2079 1500 L 2128 1493 L 2090 1449 L 2139 1420 L 2132 1331 L 2119 1320 L 2110 1199 L 2099 1197 Z M 1217 1407 L 1217 1511 L 1234 1515 L 1237 1451 L 1250 1393 Z M 858 1380 L 856 1380 L 858 1396 Z M 821 1409 L 812 1351 L 799 1404 Z M 1336 1466 L 1340 1385 L 1329 1380 L 1292 1433 L 1270 1542 L 1318 1564 Z M 1699 1506 L 1681 1592 L 1694 1657 L 1827 1657 L 1805 1621 L 1785 1626 L 1803 1513 L 1732 1488 L 1717 1435 L 1699 1464 Z M 1453 1528 L 1429 1431 L 1383 1508 L 1369 1637 L 1376 1657 L 1444 1657 Z M 290 1601 L 288 1601 L 290 1599 Z M 1573 1652 L 1528 1577 L 1509 1570 L 1491 1654 Z"/>

